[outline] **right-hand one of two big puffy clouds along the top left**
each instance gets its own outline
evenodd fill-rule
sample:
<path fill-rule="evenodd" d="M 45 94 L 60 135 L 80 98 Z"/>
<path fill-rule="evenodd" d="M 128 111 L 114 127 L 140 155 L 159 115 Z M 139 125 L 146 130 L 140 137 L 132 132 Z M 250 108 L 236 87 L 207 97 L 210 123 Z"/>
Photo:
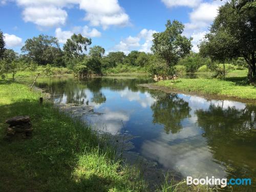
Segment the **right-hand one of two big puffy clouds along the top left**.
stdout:
<path fill-rule="evenodd" d="M 102 26 L 103 29 L 111 25 L 125 26 L 129 23 L 129 16 L 117 0 L 81 0 L 80 9 L 87 12 L 84 19 L 89 20 L 93 26 Z"/>

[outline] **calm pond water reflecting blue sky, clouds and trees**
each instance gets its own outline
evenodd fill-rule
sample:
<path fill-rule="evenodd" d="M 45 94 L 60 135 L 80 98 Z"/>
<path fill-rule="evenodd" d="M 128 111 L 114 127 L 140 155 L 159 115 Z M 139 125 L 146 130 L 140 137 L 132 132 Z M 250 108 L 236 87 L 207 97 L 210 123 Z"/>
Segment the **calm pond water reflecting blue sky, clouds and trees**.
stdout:
<path fill-rule="evenodd" d="M 195 178 L 256 182 L 256 106 L 136 86 L 146 78 L 38 79 L 55 103 L 94 107 L 86 121 L 135 136 L 130 150 L 165 170 Z"/>

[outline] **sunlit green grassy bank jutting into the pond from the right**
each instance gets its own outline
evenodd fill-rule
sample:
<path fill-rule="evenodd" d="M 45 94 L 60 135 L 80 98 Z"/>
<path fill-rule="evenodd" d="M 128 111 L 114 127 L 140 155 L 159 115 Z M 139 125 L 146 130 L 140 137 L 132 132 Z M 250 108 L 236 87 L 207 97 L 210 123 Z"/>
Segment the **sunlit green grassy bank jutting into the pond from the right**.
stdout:
<path fill-rule="evenodd" d="M 170 90 L 194 92 L 205 95 L 218 95 L 225 97 L 236 97 L 242 99 L 256 99 L 256 88 L 247 85 L 241 78 L 232 79 L 185 79 L 163 80 L 154 83 L 159 87 L 166 87 Z"/>

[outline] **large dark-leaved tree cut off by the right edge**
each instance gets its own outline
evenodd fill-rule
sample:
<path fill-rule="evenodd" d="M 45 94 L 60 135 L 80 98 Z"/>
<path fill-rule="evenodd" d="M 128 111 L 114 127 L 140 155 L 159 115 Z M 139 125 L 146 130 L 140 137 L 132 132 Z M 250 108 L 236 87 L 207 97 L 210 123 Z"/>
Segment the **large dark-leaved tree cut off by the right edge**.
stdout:
<path fill-rule="evenodd" d="M 201 50 L 218 60 L 244 57 L 248 78 L 256 76 L 256 3 L 231 0 L 219 8 L 219 14 L 201 44 Z M 215 46 L 215 47 L 214 47 Z M 214 47 L 214 50 L 210 49 Z"/>

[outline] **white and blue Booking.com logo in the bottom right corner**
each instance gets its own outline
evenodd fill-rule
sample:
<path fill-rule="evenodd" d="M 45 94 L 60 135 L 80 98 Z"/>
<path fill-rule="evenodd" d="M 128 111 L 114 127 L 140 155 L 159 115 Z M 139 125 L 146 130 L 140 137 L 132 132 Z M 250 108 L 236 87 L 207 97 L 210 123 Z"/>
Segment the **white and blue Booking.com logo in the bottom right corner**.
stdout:
<path fill-rule="evenodd" d="M 187 177 L 187 185 L 221 185 L 221 187 L 226 187 L 227 185 L 251 185 L 251 179 L 250 178 L 231 178 L 229 181 L 227 181 L 226 178 L 220 179 L 212 177 L 206 177 L 201 179 L 193 179 L 193 177 L 188 176 Z"/>

